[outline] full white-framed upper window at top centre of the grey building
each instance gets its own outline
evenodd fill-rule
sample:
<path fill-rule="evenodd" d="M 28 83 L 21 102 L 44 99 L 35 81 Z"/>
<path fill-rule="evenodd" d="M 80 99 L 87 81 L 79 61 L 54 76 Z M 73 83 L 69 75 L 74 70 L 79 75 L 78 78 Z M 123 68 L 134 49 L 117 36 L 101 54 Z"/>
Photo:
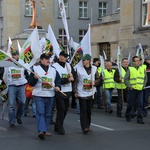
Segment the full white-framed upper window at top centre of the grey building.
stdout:
<path fill-rule="evenodd" d="M 88 18 L 88 2 L 79 2 L 79 18 Z"/>

